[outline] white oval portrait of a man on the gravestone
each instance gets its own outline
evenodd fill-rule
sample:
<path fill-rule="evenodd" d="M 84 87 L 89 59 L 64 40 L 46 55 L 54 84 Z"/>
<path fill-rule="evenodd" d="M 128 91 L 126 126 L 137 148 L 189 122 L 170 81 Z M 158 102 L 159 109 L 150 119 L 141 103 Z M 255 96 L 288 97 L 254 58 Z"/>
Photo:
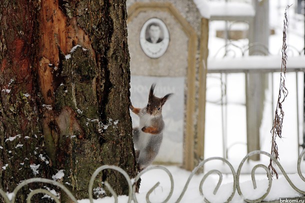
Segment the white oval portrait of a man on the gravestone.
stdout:
<path fill-rule="evenodd" d="M 140 45 L 150 58 L 162 56 L 169 43 L 169 33 L 165 23 L 159 18 L 148 19 L 140 31 Z"/>

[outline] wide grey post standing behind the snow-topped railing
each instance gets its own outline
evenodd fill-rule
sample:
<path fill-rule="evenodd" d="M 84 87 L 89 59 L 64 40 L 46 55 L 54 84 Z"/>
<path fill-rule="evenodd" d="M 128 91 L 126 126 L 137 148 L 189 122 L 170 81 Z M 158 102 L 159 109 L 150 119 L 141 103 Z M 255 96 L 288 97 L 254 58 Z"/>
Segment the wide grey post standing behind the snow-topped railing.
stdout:
<path fill-rule="evenodd" d="M 269 0 L 253 0 L 252 2 L 255 16 L 249 23 L 249 55 L 257 55 L 265 52 L 264 47 L 250 46 L 251 44 L 264 44 L 268 49 Z M 249 91 L 246 92 L 247 152 L 249 153 L 260 149 L 259 128 L 268 75 L 266 73 L 248 73 L 246 81 L 246 90 Z M 258 161 L 259 155 L 252 156 L 250 159 Z"/>

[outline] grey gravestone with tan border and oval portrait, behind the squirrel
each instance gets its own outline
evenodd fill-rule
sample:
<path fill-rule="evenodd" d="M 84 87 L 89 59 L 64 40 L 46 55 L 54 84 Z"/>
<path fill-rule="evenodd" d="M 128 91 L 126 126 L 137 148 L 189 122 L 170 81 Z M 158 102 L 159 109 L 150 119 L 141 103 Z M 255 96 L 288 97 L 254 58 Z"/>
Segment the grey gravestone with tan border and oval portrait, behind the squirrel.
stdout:
<path fill-rule="evenodd" d="M 192 0 L 127 0 L 130 100 L 147 105 L 174 93 L 162 109 L 163 141 L 155 163 L 183 164 L 192 170 L 203 158 L 208 20 Z M 132 125 L 138 118 L 131 113 Z"/>

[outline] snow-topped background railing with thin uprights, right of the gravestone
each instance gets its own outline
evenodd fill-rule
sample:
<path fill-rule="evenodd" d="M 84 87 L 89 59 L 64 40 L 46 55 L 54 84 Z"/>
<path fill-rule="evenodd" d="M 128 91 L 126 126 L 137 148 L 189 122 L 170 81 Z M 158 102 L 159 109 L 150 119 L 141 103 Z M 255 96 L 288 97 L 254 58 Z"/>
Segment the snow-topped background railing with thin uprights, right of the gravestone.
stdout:
<path fill-rule="evenodd" d="M 216 58 L 216 56 L 220 54 L 221 49 L 226 49 L 225 55 L 222 56 L 222 58 Z M 247 53 L 250 48 L 253 48 L 257 51 L 255 56 L 247 56 Z M 238 53 L 236 53 L 238 52 Z M 231 54 L 231 57 L 227 57 L 227 53 L 233 53 Z M 298 81 L 299 76 L 298 72 L 305 72 L 305 55 L 304 54 L 304 48 L 300 51 L 297 50 L 295 47 L 288 45 L 287 46 L 287 53 L 289 54 L 289 58 L 287 61 L 287 69 L 286 72 L 293 72 L 295 73 L 295 88 L 296 88 L 296 121 L 297 121 L 297 153 L 299 153 L 299 148 L 303 146 L 304 144 L 300 143 L 299 136 L 300 136 L 300 130 L 299 130 L 299 108 L 298 105 L 298 98 L 299 98 L 299 87 L 298 87 Z M 274 87 L 273 87 L 273 75 L 275 72 L 280 72 L 280 61 L 281 56 L 274 56 L 274 55 L 268 55 L 270 54 L 268 52 L 268 49 L 260 43 L 253 43 L 249 45 L 245 45 L 243 47 L 237 46 L 234 43 L 228 43 L 221 47 L 215 54 L 214 57 L 210 58 L 207 61 L 207 78 L 213 77 L 215 78 L 215 75 L 211 75 L 213 73 L 219 73 L 220 76 L 218 79 L 220 80 L 220 99 L 216 101 L 209 101 L 208 98 L 206 102 L 217 104 L 221 106 L 221 128 L 222 128 L 222 150 L 223 150 L 223 158 L 227 158 L 227 152 L 229 150 L 229 147 L 227 147 L 227 104 L 229 102 L 227 101 L 227 93 L 226 93 L 226 85 L 227 85 L 227 75 L 228 74 L 234 74 L 234 73 L 244 73 L 246 81 L 248 78 L 248 75 L 250 73 L 269 73 L 271 74 L 271 95 L 274 95 Z M 241 55 L 242 57 L 235 57 L 236 55 Z M 249 65 L 250 64 L 250 65 Z M 265 64 L 265 67 L 256 65 L 255 64 Z M 249 67 L 250 66 L 250 67 Z M 247 82 L 246 82 L 247 83 Z M 247 85 L 247 84 L 245 84 Z M 246 91 L 248 88 L 245 88 Z M 207 87 L 208 90 L 208 87 Z M 236 104 L 236 103 L 234 103 Z M 245 103 L 238 103 L 239 105 L 246 106 Z M 274 99 L 272 96 L 271 99 L 271 114 L 273 119 L 273 106 L 274 106 Z M 246 106 L 246 108 L 248 108 Z M 271 127 L 270 127 L 271 128 Z M 233 143 L 230 145 L 234 146 L 237 143 Z M 241 144 L 238 142 L 238 144 Z M 246 145 L 246 143 L 242 143 Z"/>

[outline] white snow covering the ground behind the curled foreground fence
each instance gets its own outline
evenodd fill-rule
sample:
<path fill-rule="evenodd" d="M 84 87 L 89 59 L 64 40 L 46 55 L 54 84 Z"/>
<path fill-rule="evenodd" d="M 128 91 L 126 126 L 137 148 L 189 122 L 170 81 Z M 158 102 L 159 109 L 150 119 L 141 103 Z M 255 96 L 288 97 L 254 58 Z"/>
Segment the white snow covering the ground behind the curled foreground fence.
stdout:
<path fill-rule="evenodd" d="M 270 28 L 275 30 L 274 35 L 269 37 L 269 51 L 271 54 L 280 54 L 282 45 L 282 25 L 283 25 L 283 13 L 287 4 L 295 3 L 294 0 L 269 0 L 270 3 Z M 280 9 L 278 9 L 280 7 Z M 287 11 L 288 16 L 288 30 L 287 30 L 287 44 L 295 47 L 297 50 L 301 50 L 304 47 L 304 19 L 302 16 L 294 13 L 294 7 L 290 7 Z M 224 40 L 215 37 L 215 30 L 217 27 L 223 26 L 221 22 L 210 23 L 209 33 L 209 58 L 216 57 L 221 58 L 223 50 L 218 52 L 219 48 L 224 45 Z M 237 40 L 233 42 L 238 46 L 246 46 L 247 39 Z M 288 53 L 291 56 L 291 53 Z M 240 56 L 241 54 L 239 54 Z M 238 54 L 237 54 L 238 56 Z M 289 66 L 289 56 L 287 61 Z M 280 68 L 280 67 L 279 67 Z M 296 111 L 296 76 L 295 73 L 286 74 L 286 87 L 289 94 L 285 102 L 283 103 L 284 120 L 282 129 L 282 139 L 277 140 L 280 163 L 284 170 L 289 173 L 289 177 L 292 183 L 300 190 L 305 191 L 305 184 L 296 175 L 296 163 L 298 158 L 297 139 L 301 140 L 302 130 L 302 102 L 303 102 L 303 73 L 298 73 L 298 105 L 299 105 L 299 135 L 297 135 L 297 111 Z M 266 100 L 264 102 L 263 121 L 260 128 L 260 146 L 261 150 L 270 151 L 270 129 L 272 125 L 272 112 L 275 107 L 271 106 L 271 98 L 274 101 L 277 98 L 277 88 L 279 84 L 279 74 L 273 74 L 273 86 L 274 94 L 271 94 L 271 75 L 269 75 L 269 85 L 265 92 Z M 228 151 L 228 160 L 233 165 L 235 172 L 242 158 L 246 155 L 246 121 L 245 121 L 245 89 L 244 89 L 244 74 L 234 73 L 227 75 L 227 146 L 232 146 Z M 207 77 L 207 90 L 206 100 L 216 101 L 220 99 L 221 89 L 219 74 L 208 74 Z M 275 103 L 275 102 L 274 102 Z M 205 146 L 204 146 L 204 158 L 209 157 L 222 157 L 222 132 L 221 132 L 221 107 L 211 102 L 206 103 L 206 123 L 205 123 Z M 268 165 L 268 158 L 261 156 L 259 163 Z M 257 162 L 248 162 L 244 164 L 243 172 L 250 171 Z M 174 180 L 174 190 L 169 202 L 174 203 L 180 196 L 185 183 L 190 175 L 190 172 L 180 169 L 177 166 L 165 166 L 172 174 Z M 218 176 L 209 176 L 203 184 L 203 195 L 212 203 L 224 202 L 232 192 L 232 175 L 230 175 L 229 168 L 225 167 L 220 161 L 215 161 L 211 164 L 204 165 L 204 172 L 208 172 L 212 169 L 218 169 L 225 172 L 223 174 L 222 184 L 216 193 L 213 195 L 213 190 L 217 184 Z M 278 171 L 278 170 L 277 170 Z M 301 171 L 305 173 L 305 163 L 302 161 Z M 255 176 L 257 181 L 257 189 L 253 189 L 253 184 L 250 175 L 242 174 L 240 176 L 240 188 L 242 196 L 240 197 L 235 191 L 235 195 L 231 202 L 241 203 L 243 199 L 257 199 L 262 196 L 267 187 L 268 181 L 263 170 L 258 170 L 258 175 Z M 303 174 L 304 175 L 304 174 Z M 203 203 L 204 197 L 199 193 L 199 184 L 203 177 L 203 174 L 195 175 L 192 177 L 186 193 L 184 194 L 181 203 Z M 140 193 L 136 195 L 139 203 L 146 202 L 146 193 L 151 187 L 160 182 L 154 192 L 152 192 L 149 200 L 152 203 L 162 202 L 165 200 L 170 191 L 170 181 L 168 176 L 161 170 L 152 170 L 143 174 L 141 177 Z M 269 195 L 264 199 L 265 201 L 278 200 L 278 198 L 299 197 L 300 194 L 295 192 L 288 182 L 280 175 L 278 180 L 272 181 L 272 187 Z M 119 202 L 126 202 L 126 196 L 120 196 Z M 96 200 L 94 203 L 112 203 L 113 198 L 104 198 L 102 200 Z M 81 200 L 79 203 L 89 203 L 88 200 Z"/>

